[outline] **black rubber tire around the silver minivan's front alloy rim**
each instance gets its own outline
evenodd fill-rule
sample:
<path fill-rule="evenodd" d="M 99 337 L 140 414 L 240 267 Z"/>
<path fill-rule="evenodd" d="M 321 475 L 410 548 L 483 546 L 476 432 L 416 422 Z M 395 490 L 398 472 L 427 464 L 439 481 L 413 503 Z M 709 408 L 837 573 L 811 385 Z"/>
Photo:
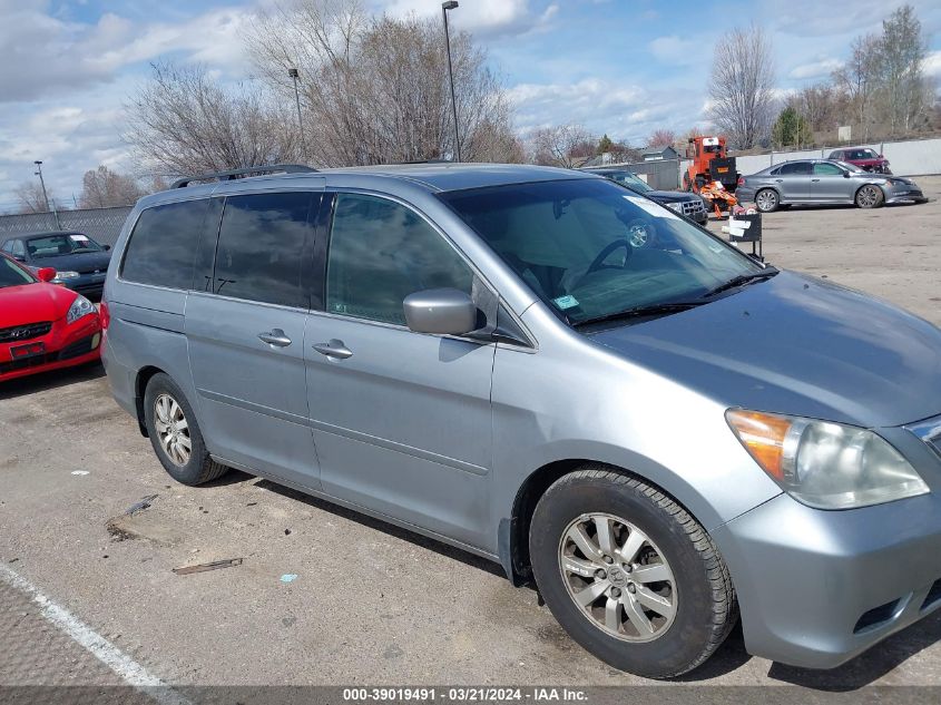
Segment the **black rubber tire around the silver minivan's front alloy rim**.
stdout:
<path fill-rule="evenodd" d="M 561 549 L 569 528 L 588 513 L 627 519 L 668 562 L 673 574 L 668 596 L 675 613 L 659 636 L 625 640 L 576 604 L 570 578 L 561 568 Z M 584 466 L 546 491 L 532 517 L 529 546 L 537 586 L 552 615 L 578 644 L 615 668 L 649 678 L 679 676 L 705 663 L 738 618 L 728 569 L 705 529 L 656 488 L 606 466 Z M 640 567 L 635 565 L 634 570 Z M 638 589 L 631 587 L 628 581 L 625 589 Z M 610 604 L 611 594 L 598 599 Z M 619 599 L 627 601 L 627 596 Z M 620 614 L 626 607 L 616 609 Z"/>

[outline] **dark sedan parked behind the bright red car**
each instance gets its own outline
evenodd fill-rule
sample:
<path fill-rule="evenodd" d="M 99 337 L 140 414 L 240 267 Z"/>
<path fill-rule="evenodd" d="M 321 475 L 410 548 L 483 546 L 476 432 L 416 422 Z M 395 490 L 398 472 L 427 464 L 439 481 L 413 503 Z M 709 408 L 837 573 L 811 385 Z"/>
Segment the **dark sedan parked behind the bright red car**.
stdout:
<path fill-rule="evenodd" d="M 9 237 L 0 245 L 4 252 L 30 270 L 56 270 L 55 284 L 86 296 L 98 297 L 105 286 L 111 247 L 99 245 L 84 233 L 30 233 Z"/>

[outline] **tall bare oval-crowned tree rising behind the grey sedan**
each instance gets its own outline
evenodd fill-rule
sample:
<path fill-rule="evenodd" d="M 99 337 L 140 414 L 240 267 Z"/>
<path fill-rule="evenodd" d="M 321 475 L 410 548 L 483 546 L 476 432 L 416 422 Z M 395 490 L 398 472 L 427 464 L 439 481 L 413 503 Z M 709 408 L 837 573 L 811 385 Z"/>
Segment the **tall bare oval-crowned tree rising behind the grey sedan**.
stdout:
<path fill-rule="evenodd" d="M 771 40 L 761 28 L 734 29 L 716 43 L 709 117 L 737 147 L 749 149 L 767 138 L 774 80 Z"/>

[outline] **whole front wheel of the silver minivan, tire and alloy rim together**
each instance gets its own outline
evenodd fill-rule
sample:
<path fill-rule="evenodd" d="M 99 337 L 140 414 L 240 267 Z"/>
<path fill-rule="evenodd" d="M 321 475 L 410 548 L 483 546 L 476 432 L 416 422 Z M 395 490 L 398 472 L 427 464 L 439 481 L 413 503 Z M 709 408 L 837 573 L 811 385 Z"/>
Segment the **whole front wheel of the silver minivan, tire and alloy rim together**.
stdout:
<path fill-rule="evenodd" d="M 552 615 L 616 668 L 679 676 L 737 619 L 732 579 L 705 529 L 656 488 L 605 466 L 585 466 L 546 491 L 529 545 Z"/>

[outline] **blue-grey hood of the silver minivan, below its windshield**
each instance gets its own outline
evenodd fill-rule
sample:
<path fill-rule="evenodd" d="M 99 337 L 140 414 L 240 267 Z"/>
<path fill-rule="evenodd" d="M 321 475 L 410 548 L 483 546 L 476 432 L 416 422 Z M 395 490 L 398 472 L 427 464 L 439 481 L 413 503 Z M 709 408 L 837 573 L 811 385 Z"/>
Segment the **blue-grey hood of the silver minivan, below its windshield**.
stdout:
<path fill-rule="evenodd" d="M 863 427 L 941 413 L 941 330 L 791 272 L 590 337 L 727 407 Z"/>

